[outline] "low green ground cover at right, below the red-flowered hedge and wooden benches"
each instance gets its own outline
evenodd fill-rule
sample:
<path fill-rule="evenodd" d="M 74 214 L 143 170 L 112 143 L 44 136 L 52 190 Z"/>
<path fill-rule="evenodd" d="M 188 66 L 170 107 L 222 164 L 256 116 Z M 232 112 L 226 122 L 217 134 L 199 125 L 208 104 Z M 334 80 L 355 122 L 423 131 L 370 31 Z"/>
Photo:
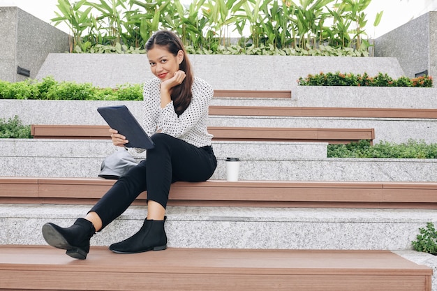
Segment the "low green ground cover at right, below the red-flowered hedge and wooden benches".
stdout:
<path fill-rule="evenodd" d="M 437 144 L 408 140 L 401 144 L 382 141 L 370 145 L 369 140 L 349 144 L 329 144 L 328 158 L 437 158 Z"/>

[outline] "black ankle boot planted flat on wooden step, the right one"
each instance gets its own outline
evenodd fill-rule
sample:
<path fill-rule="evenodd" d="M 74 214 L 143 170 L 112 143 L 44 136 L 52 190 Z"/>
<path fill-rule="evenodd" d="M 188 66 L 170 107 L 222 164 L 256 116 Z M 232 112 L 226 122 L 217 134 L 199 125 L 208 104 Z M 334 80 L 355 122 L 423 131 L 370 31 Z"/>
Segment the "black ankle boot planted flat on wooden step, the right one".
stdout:
<path fill-rule="evenodd" d="M 142 253 L 147 251 L 161 251 L 167 248 L 163 221 L 145 220 L 140 230 L 132 237 L 117 244 L 110 245 L 114 253 Z"/>

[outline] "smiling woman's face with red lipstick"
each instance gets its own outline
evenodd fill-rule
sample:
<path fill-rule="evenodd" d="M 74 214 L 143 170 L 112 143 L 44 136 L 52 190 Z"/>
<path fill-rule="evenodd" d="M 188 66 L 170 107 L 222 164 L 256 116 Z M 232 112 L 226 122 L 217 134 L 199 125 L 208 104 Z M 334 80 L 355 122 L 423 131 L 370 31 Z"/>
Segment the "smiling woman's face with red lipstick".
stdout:
<path fill-rule="evenodd" d="M 151 73 L 161 81 L 168 80 L 179 70 L 179 64 L 184 60 L 184 52 L 179 50 L 174 56 L 166 47 L 155 45 L 147 51 Z"/>

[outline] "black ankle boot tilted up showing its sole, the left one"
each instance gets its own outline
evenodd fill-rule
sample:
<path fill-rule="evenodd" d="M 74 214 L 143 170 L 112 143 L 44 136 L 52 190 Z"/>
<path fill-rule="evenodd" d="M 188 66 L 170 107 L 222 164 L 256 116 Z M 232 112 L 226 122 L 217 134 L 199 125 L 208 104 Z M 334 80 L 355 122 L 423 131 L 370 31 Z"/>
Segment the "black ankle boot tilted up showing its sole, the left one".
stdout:
<path fill-rule="evenodd" d="M 54 223 L 43 225 L 43 237 L 47 244 L 67 250 L 71 258 L 85 260 L 89 253 L 89 239 L 96 233 L 91 221 L 77 218 L 71 227 L 59 227 Z"/>

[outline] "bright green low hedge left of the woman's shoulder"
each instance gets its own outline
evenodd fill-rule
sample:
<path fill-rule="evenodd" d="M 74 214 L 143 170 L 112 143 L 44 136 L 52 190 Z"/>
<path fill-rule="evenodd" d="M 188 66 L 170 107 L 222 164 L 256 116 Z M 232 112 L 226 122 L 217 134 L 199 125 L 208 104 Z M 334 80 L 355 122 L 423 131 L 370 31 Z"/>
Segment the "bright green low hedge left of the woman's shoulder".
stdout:
<path fill-rule="evenodd" d="M 142 84 L 100 89 L 90 83 L 57 82 L 53 77 L 45 77 L 41 82 L 0 80 L 0 99 L 142 100 Z"/>

